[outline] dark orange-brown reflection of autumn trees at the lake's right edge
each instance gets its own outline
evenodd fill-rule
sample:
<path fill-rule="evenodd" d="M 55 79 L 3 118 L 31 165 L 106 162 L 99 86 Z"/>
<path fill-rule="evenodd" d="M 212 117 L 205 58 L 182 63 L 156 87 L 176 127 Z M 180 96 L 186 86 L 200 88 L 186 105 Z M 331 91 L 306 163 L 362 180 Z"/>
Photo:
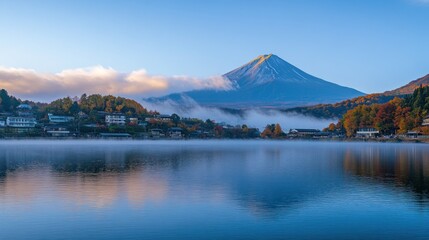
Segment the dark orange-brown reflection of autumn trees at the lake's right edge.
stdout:
<path fill-rule="evenodd" d="M 429 197 L 429 155 L 423 146 L 387 145 L 349 148 L 344 169 L 358 176 L 412 189 Z"/>

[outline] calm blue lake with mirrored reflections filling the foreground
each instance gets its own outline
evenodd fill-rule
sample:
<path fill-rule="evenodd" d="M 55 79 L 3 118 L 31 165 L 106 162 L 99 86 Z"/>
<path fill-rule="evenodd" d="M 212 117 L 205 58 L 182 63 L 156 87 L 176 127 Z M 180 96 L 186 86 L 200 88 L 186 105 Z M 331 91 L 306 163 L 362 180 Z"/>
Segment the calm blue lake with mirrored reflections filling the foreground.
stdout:
<path fill-rule="evenodd" d="M 428 239 L 429 145 L 0 141 L 0 239 Z"/>

